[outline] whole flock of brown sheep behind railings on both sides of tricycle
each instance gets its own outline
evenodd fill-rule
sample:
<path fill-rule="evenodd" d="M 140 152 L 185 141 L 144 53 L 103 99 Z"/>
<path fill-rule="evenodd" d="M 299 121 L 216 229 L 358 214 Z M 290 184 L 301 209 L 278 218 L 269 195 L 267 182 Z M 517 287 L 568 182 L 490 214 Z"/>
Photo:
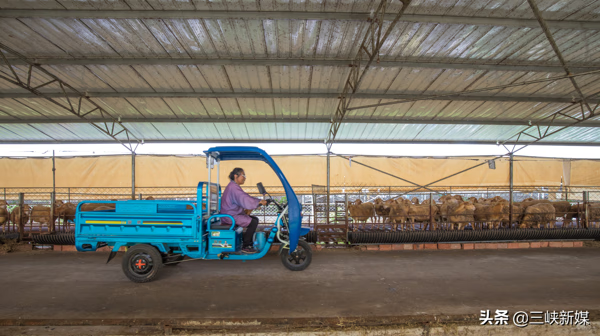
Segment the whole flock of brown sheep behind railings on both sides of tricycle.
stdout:
<path fill-rule="evenodd" d="M 147 200 L 154 199 L 147 197 Z M 430 204 L 431 203 L 431 204 Z M 554 228 L 557 218 L 561 218 L 562 227 L 573 225 L 575 219 L 578 226 L 584 221 L 581 215 L 585 212 L 583 204 L 571 204 L 567 201 L 551 202 L 548 200 L 526 199 L 523 202 L 513 202 L 512 222 L 510 221 L 509 202 L 500 196 L 494 198 L 471 197 L 467 201 L 460 195 L 445 195 L 438 202 L 429 199 L 419 204 L 419 199 L 405 198 L 375 199 L 373 202 L 363 203 L 360 199 L 348 205 L 350 217 L 357 224 L 354 230 L 366 228 L 370 222 L 371 229 L 390 227 L 393 231 L 415 230 L 420 223 L 423 230 L 463 230 L 470 225 L 472 229 L 498 229 L 498 228 Z M 12 223 L 40 223 L 47 225 L 62 219 L 63 223 L 75 219 L 77 205 L 56 201 L 54 218 L 51 217 L 49 206 L 29 205 L 23 206 L 20 211 L 16 206 L 9 211 L 6 201 L 0 200 L 0 227 L 8 221 Z M 85 203 L 82 211 L 101 211 L 115 208 L 115 203 Z M 23 218 L 21 219 L 21 214 Z M 588 213 L 589 223 L 600 222 L 600 203 L 591 203 Z"/>

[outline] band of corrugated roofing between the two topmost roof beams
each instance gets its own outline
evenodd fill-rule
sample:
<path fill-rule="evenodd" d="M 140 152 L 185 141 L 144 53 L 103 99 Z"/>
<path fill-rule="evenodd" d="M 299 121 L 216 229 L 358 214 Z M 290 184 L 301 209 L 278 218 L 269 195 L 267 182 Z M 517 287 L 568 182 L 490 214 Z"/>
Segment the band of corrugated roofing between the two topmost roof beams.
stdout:
<path fill-rule="evenodd" d="M 253 19 L 0 19 L 3 43 L 31 57 L 190 57 L 351 59 L 358 21 Z M 555 29 L 567 61 L 598 60 L 599 32 Z M 43 48 L 33 48 L 33 39 Z M 586 40 L 586 43 L 582 41 Z M 453 58 L 503 63 L 556 62 L 539 28 L 401 22 L 385 59 Z"/>

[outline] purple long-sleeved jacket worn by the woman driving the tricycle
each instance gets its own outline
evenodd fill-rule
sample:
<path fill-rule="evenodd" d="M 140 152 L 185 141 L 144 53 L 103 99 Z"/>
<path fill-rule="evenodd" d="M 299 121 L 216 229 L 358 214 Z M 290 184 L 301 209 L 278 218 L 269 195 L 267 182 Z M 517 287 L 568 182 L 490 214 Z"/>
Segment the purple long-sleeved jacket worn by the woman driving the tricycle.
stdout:
<path fill-rule="evenodd" d="M 260 199 L 248 195 L 242 187 L 231 181 L 221 195 L 221 214 L 231 215 L 235 219 L 235 225 L 247 227 L 250 225 L 252 218 L 246 215 L 244 209 L 256 209 Z M 227 217 L 221 219 L 223 224 L 231 224 L 231 220 Z"/>

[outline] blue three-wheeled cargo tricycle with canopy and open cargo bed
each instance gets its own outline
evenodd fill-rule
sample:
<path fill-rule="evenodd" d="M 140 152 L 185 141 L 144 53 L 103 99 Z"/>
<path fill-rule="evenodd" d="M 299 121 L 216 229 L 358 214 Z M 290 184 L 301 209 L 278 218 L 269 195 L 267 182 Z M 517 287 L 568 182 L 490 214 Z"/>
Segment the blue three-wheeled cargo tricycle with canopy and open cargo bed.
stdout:
<path fill-rule="evenodd" d="M 95 251 L 110 246 L 108 262 L 121 247 L 127 247 L 122 267 L 134 282 L 156 278 L 163 265 L 177 265 L 184 258 L 215 260 L 255 260 L 265 256 L 278 240 L 283 265 L 292 271 L 306 269 L 312 260 L 310 245 L 303 228 L 301 206 L 294 190 L 273 159 L 257 147 L 213 147 L 206 153 L 208 182 L 200 182 L 194 201 L 130 200 L 83 201 L 77 205 L 75 245 L 78 251 Z M 285 190 L 287 203 L 277 207 L 277 219 L 270 230 L 254 235 L 254 254 L 244 254 L 242 234 L 235 220 L 219 214 L 221 187 L 219 163 L 227 160 L 258 160 L 275 171 Z M 211 182 L 217 168 L 217 183 Z M 268 194 L 261 183 L 259 192 Z M 233 224 L 221 223 L 229 217 Z"/>

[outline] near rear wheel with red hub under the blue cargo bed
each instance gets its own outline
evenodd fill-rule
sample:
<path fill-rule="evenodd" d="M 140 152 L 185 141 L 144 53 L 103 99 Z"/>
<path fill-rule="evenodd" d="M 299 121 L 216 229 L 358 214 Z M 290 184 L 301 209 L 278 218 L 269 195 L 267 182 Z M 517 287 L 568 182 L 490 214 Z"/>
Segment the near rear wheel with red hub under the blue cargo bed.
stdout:
<path fill-rule="evenodd" d="M 162 256 L 154 246 L 138 244 L 127 250 L 121 266 L 129 280 L 137 283 L 150 282 L 163 266 Z"/>

